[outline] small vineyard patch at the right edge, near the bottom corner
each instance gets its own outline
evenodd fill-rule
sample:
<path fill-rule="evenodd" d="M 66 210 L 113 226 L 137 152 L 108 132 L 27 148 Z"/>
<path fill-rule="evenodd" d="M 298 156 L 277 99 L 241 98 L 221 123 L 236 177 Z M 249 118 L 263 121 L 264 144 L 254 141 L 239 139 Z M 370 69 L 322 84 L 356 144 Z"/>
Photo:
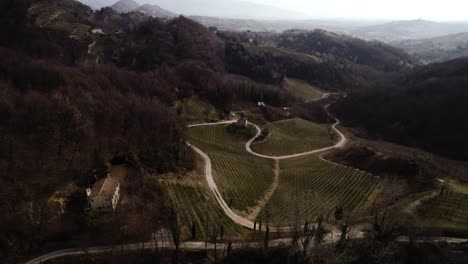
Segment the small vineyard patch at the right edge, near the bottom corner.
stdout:
<path fill-rule="evenodd" d="M 419 215 L 426 226 L 468 232 L 468 194 L 444 191 L 423 204 Z"/>

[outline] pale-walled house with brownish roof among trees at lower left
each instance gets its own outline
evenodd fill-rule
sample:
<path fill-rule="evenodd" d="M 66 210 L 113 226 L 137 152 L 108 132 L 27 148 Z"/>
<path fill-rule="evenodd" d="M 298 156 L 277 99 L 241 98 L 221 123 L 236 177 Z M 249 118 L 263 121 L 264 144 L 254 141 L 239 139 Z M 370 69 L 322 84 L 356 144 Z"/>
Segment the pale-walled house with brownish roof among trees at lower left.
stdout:
<path fill-rule="evenodd" d="M 116 177 L 105 177 L 86 189 L 89 206 L 99 213 L 112 213 L 120 199 L 120 183 Z"/>

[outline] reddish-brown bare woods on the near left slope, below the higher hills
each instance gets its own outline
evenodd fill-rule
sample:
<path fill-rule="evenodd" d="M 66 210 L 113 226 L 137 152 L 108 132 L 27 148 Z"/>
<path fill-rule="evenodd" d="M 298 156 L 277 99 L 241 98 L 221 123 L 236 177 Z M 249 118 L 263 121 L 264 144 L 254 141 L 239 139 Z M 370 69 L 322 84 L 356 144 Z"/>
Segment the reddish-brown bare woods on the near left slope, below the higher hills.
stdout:
<path fill-rule="evenodd" d="M 157 73 L 0 56 L 1 259 L 16 262 L 64 231 L 49 199 L 70 183 L 83 192 L 96 151 L 135 155 L 155 173 L 190 167 L 175 91 Z"/>

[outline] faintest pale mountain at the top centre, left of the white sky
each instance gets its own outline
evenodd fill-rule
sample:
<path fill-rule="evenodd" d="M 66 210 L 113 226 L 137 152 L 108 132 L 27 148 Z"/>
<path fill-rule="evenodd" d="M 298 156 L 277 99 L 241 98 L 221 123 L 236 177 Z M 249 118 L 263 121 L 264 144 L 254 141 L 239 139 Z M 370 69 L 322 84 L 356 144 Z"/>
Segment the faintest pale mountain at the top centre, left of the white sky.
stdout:
<path fill-rule="evenodd" d="M 185 16 L 242 19 L 307 18 L 307 15 L 299 12 L 239 0 L 148 0 L 147 2 Z"/>

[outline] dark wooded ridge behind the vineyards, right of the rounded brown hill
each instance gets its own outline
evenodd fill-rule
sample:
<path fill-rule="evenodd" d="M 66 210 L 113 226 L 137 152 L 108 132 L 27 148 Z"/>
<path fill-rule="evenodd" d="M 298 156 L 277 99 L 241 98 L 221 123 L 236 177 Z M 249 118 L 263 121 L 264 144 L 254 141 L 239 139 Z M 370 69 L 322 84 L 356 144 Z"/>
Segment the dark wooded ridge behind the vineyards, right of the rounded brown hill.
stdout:
<path fill-rule="evenodd" d="M 254 47 L 259 51 L 252 52 L 238 38 L 223 37 L 226 43 L 226 69 L 260 82 L 281 85 L 284 77 L 288 76 L 323 89 L 343 91 L 366 89 L 375 82 L 384 82 L 389 78 L 388 74 L 338 56 L 324 56 L 322 61 L 314 61 L 262 47 Z"/>

